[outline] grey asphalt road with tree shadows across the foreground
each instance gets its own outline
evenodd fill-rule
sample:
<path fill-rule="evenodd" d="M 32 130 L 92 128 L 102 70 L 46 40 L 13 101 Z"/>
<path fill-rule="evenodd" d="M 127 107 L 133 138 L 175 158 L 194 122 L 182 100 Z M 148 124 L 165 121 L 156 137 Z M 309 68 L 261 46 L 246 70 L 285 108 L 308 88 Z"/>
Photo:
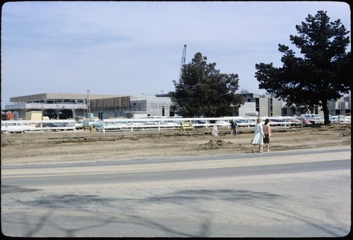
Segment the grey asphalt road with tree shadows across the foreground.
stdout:
<path fill-rule="evenodd" d="M 28 237 L 333 237 L 348 147 L 1 166 L 1 231 Z"/>

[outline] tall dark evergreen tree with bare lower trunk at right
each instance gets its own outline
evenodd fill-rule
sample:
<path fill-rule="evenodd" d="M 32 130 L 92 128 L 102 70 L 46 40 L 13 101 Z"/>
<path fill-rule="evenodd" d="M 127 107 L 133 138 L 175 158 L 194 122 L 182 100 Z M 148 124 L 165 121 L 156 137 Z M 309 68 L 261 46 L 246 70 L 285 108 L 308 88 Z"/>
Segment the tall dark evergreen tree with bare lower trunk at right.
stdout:
<path fill-rule="evenodd" d="M 301 50 L 302 57 L 296 57 L 293 50 L 279 44 L 282 67 L 273 63 L 256 64 L 256 79 L 259 88 L 275 93 L 287 105 L 304 106 L 308 110 L 321 107 L 325 124 L 329 122 L 328 101 L 336 101 L 351 91 L 351 53 L 349 31 L 340 19 L 330 22 L 325 11 L 316 16 L 309 15 L 306 22 L 296 25 L 299 35 L 290 35 L 292 44 Z"/>

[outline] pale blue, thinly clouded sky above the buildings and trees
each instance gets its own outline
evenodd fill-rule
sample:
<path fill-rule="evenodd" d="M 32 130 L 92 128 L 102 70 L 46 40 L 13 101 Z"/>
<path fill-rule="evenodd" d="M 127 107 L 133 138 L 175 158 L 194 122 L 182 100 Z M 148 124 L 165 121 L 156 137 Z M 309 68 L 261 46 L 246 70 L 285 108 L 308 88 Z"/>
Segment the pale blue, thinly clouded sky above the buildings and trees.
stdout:
<path fill-rule="evenodd" d="M 40 93 L 152 96 L 175 91 L 197 52 L 239 91 L 263 94 L 255 64 L 318 11 L 351 29 L 344 1 L 14 1 L 1 8 L 1 106 Z M 350 33 L 349 33 L 350 34 Z M 349 49 L 350 50 L 350 45 Z"/>

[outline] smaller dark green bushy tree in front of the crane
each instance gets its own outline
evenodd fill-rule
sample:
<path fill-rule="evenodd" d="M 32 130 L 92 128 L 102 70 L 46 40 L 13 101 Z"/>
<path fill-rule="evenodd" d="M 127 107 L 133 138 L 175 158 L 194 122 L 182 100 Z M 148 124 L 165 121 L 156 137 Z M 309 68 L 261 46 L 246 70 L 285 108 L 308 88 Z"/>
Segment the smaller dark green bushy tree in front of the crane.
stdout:
<path fill-rule="evenodd" d="M 178 115 L 183 117 L 220 117 L 233 115 L 244 104 L 235 93 L 239 88 L 237 74 L 222 74 L 216 64 L 208 64 L 207 57 L 196 53 L 189 64 L 181 68 L 179 81 L 173 80 L 175 91 L 170 92 Z"/>

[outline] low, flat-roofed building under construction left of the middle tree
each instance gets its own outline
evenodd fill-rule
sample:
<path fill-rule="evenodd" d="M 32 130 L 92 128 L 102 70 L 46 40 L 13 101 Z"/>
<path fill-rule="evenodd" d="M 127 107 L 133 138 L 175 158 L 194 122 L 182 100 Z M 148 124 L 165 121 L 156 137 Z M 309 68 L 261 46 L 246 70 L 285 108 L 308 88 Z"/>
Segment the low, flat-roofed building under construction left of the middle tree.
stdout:
<path fill-rule="evenodd" d="M 88 113 L 100 119 L 174 116 L 172 101 L 165 96 L 40 93 L 10 101 L 12 104 L 2 110 L 15 113 L 16 118 L 26 118 L 26 113 L 38 110 L 50 119 L 83 118 Z"/>

